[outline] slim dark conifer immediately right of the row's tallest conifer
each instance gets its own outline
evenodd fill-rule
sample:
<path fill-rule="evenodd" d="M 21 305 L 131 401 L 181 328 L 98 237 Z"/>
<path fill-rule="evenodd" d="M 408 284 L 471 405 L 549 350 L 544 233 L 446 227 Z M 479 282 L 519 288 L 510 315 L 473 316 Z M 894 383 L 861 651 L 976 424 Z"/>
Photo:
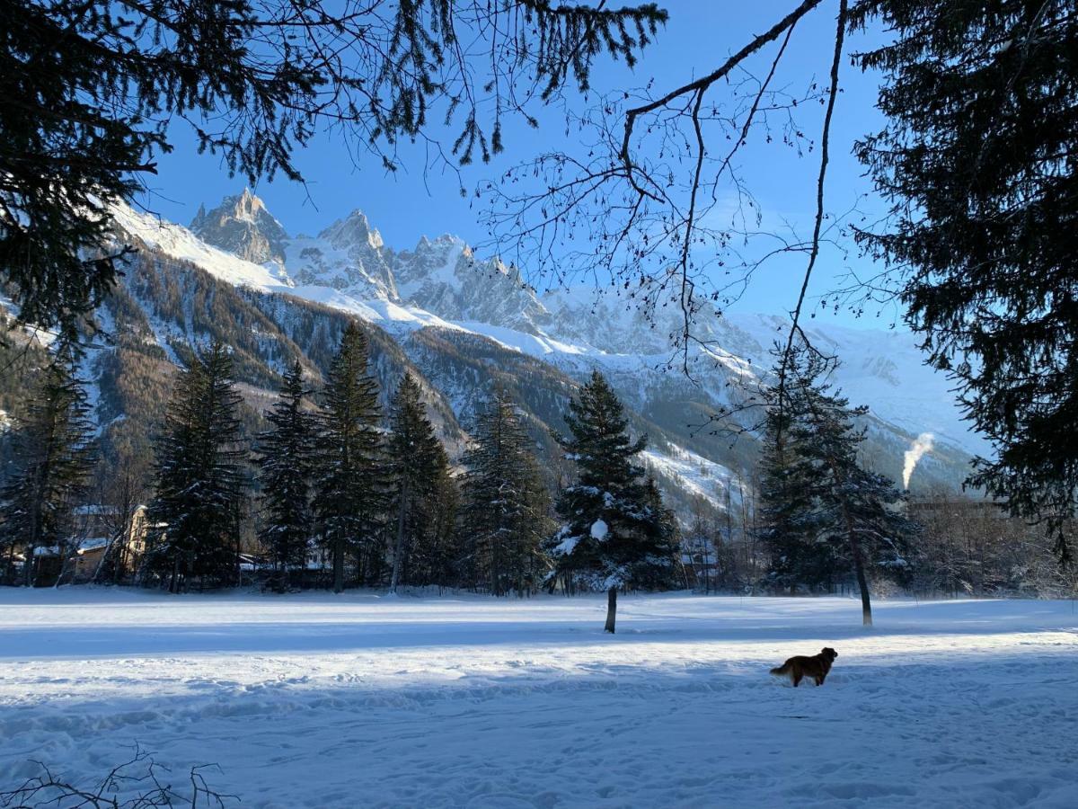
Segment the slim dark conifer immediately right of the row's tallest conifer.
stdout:
<path fill-rule="evenodd" d="M 427 417 L 421 390 L 412 374 L 405 372 L 397 386 L 389 434 L 389 479 L 396 517 L 393 568 L 389 589 L 397 591 L 405 560 L 415 553 L 426 557 L 426 565 L 439 557 L 438 532 L 433 524 L 434 497 L 439 483 L 448 474 L 450 461 L 442 442 Z M 416 582 L 420 584 L 420 582 Z"/>

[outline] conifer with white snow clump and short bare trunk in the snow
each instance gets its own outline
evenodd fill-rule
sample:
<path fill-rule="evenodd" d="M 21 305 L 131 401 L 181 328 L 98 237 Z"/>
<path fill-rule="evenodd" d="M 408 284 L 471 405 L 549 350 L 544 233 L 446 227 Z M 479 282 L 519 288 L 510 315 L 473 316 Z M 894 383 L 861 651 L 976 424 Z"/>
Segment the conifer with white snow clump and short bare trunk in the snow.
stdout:
<path fill-rule="evenodd" d="M 551 581 L 605 589 L 606 631 L 613 632 L 620 588 L 672 582 L 677 524 L 634 463 L 647 439 L 628 437 L 622 404 L 598 371 L 569 402 L 565 422 L 570 435 L 559 442 L 579 478 L 558 497 L 563 524 L 548 541 L 555 562 Z"/>

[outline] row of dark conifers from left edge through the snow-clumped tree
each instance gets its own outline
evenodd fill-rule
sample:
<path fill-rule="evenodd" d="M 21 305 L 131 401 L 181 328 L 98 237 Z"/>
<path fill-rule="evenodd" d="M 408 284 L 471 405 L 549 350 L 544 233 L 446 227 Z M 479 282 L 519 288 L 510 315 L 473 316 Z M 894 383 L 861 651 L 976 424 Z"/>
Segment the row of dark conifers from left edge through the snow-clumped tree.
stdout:
<path fill-rule="evenodd" d="M 53 355 L 10 436 L 0 541 L 8 578 L 17 556 L 26 585 L 39 549 L 74 552 L 74 516 L 92 494 L 95 426 L 78 366 L 67 349 Z M 229 349 L 215 342 L 186 353 L 155 440 L 146 552 L 121 577 L 174 592 L 231 586 L 257 552 L 278 589 L 318 584 L 323 568 L 337 592 L 434 585 L 503 595 L 676 584 L 676 520 L 632 463 L 646 439 L 630 439 L 602 375 L 570 402 L 568 435 L 557 437 L 580 470 L 580 482 L 557 496 L 505 390 L 476 413 L 461 468 L 451 464 L 411 374 L 387 412 L 379 393 L 367 337 L 353 321 L 321 389 L 296 361 L 264 413 L 266 429 L 248 440 Z M 559 522 L 569 527 L 556 531 Z"/>

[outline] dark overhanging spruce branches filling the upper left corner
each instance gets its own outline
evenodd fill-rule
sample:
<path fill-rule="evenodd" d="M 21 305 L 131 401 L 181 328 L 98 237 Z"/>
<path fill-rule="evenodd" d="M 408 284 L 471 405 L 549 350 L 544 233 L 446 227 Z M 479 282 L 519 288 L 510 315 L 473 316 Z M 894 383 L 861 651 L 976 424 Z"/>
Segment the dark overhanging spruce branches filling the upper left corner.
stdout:
<path fill-rule="evenodd" d="M 389 170 L 410 140 L 451 165 L 486 160 L 503 118 L 534 122 L 527 107 L 586 88 L 603 53 L 632 61 L 666 15 L 549 0 L 10 0 L 3 17 L 0 277 L 25 321 L 73 338 L 123 252 L 110 205 L 154 173 L 172 125 L 251 182 L 300 179 L 295 150 L 327 127 Z"/>

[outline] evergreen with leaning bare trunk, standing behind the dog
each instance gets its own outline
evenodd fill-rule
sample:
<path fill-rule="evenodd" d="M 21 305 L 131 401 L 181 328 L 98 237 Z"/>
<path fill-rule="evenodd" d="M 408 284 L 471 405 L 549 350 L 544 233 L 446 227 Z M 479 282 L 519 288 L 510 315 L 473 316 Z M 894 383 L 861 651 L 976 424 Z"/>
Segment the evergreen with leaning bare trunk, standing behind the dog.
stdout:
<path fill-rule="evenodd" d="M 772 572 L 792 589 L 819 587 L 852 568 L 871 626 L 868 571 L 903 578 L 917 526 L 897 507 L 903 497 L 895 484 L 857 463 L 866 430 L 854 420 L 868 409 L 831 392 L 826 374 L 833 365 L 802 346 L 786 369 L 782 406 L 777 390 L 768 394 L 760 493 Z"/>

